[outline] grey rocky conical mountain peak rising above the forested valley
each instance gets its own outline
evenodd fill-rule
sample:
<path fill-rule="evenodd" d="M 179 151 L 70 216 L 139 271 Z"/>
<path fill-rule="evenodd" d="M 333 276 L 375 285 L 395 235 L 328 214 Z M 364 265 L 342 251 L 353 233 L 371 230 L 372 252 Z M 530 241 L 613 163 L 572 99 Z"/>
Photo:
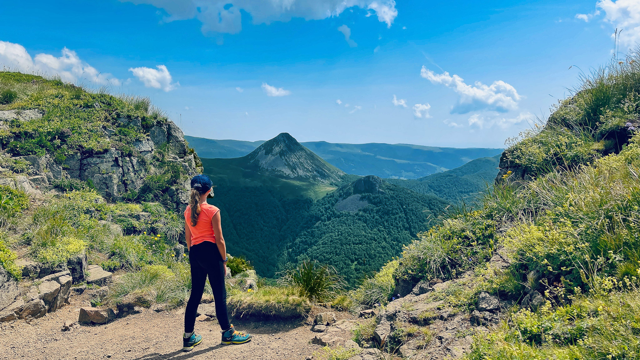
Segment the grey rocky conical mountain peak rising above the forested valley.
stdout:
<path fill-rule="evenodd" d="M 251 167 L 278 177 L 320 183 L 338 181 L 345 173 L 322 160 L 289 133 L 280 133 L 245 156 Z"/>

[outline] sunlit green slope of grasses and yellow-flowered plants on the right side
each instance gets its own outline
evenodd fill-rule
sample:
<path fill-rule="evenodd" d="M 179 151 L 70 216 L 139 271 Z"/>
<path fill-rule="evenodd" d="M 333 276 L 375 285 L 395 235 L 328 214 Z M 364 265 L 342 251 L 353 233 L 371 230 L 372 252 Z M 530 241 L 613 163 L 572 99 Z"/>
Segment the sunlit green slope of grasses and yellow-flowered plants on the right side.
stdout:
<path fill-rule="evenodd" d="M 545 126 L 513 140 L 475 210 L 419 234 L 356 291 L 361 303 L 390 281 L 464 275 L 468 286 L 447 282 L 425 296 L 463 312 L 481 291 L 513 304 L 476 332 L 468 359 L 637 359 L 639 60 L 585 78 Z M 487 264 L 496 252 L 504 270 Z"/>

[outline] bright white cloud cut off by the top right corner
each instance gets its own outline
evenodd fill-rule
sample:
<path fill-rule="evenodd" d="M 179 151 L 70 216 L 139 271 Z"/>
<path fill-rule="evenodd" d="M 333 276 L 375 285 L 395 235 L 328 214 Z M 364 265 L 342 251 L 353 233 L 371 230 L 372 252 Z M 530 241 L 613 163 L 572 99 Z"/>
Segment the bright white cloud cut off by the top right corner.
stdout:
<path fill-rule="evenodd" d="M 633 47 L 640 42 L 640 1 L 600 0 L 596 7 L 605 12 L 605 21 L 619 30 L 620 44 Z"/>

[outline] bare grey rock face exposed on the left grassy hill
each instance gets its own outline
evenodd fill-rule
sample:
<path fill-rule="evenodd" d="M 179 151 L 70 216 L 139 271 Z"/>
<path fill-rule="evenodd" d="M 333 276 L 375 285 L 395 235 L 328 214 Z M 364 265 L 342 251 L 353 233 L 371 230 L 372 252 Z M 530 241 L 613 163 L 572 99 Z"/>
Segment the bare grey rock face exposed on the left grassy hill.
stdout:
<path fill-rule="evenodd" d="M 0 129 L 5 126 L 4 121 L 11 119 L 32 120 L 44 115 L 40 110 L 0 111 Z M 136 140 L 131 144 L 127 152 L 116 148 L 106 149 L 104 152 L 92 154 L 74 154 L 67 156 L 63 163 L 58 163 L 49 155 L 45 156 L 19 156 L 14 160 L 22 160 L 29 164 L 24 176 L 13 179 L 0 179 L 13 183 L 14 188 L 20 188 L 30 195 L 40 196 L 42 190 L 48 190 L 52 185 L 68 179 L 89 181 L 106 199 L 122 200 L 122 196 L 133 191 L 140 190 L 147 176 L 163 172 L 163 167 L 154 156 L 154 152 L 163 148 L 163 160 L 175 163 L 184 170 L 187 176 L 202 173 L 202 168 L 195 154 L 189 154 L 189 147 L 184 140 L 182 130 L 172 121 L 165 124 L 157 124 L 144 129 L 140 119 L 118 119 L 122 126 L 136 126 L 148 136 L 142 140 Z M 6 126 L 5 126 L 6 127 Z M 110 136 L 115 129 L 105 127 L 104 133 Z M 186 180 L 186 179 L 185 179 Z M 188 200 L 188 184 L 176 186 L 172 193 L 172 201 L 177 209 L 183 208 Z"/>

